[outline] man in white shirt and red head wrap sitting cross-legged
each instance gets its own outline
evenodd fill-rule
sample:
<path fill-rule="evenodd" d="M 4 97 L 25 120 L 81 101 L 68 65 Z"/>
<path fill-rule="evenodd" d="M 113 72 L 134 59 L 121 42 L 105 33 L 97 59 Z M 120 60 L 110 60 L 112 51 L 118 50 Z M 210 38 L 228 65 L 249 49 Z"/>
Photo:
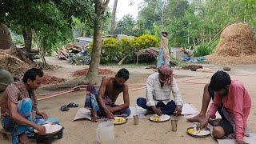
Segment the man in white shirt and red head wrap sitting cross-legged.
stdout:
<path fill-rule="evenodd" d="M 174 95 L 174 101 L 170 94 Z M 146 98 L 138 98 L 137 104 L 147 109 L 146 114 L 174 114 L 182 113 L 182 96 L 178 90 L 178 85 L 173 78 L 173 71 L 167 65 L 162 65 L 158 73 L 151 74 L 146 80 Z"/>

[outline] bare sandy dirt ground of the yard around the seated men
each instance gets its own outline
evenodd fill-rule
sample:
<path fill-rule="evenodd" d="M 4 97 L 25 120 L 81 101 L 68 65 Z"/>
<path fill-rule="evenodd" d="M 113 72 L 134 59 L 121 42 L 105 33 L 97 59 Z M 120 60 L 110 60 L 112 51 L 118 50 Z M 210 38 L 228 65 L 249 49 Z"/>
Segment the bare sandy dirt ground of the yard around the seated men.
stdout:
<path fill-rule="evenodd" d="M 58 61 L 57 58 L 47 58 L 47 62 L 62 66 L 62 69 L 55 71 L 46 71 L 47 74 L 58 76 L 60 78 L 70 79 L 70 74 L 75 70 L 80 70 L 86 66 L 71 66 L 65 61 Z M 221 70 L 221 66 L 204 65 L 208 68 Z M 88 67 L 88 66 L 87 66 Z M 122 66 L 102 66 L 103 68 L 110 68 L 113 71 L 118 71 Z M 130 70 L 130 79 L 128 84 L 144 85 L 149 74 L 153 74 L 153 70 L 146 70 L 145 67 L 125 66 Z M 250 118 L 248 121 L 249 129 L 256 133 L 256 126 L 254 124 L 256 116 L 255 100 L 256 100 L 256 65 L 231 66 L 232 71 L 229 72 L 232 79 L 238 79 L 245 83 L 246 88 L 250 92 L 252 98 L 252 109 L 250 111 Z M 200 110 L 202 105 L 202 90 L 203 83 L 210 82 L 210 76 L 214 73 L 199 73 L 190 70 L 174 70 L 175 77 L 178 81 L 179 90 L 181 91 L 184 102 L 190 102 Z M 131 86 L 130 90 L 138 87 Z M 42 94 L 38 90 L 38 94 Z M 49 93 L 49 92 L 47 92 Z M 136 105 L 138 97 L 145 97 L 146 89 L 130 91 L 130 106 Z M 39 110 L 46 111 L 52 117 L 59 118 L 62 125 L 65 127 L 63 138 L 54 140 L 53 143 L 63 144 L 96 144 L 95 131 L 98 123 L 90 122 L 88 120 L 79 120 L 73 122 L 74 115 L 78 108 L 71 108 L 66 112 L 62 112 L 59 108 L 70 102 L 76 102 L 79 107 L 84 105 L 85 91 L 78 91 L 70 94 L 64 94 L 55 98 L 40 101 L 38 103 Z M 118 98 L 118 103 L 122 103 L 122 95 Z M 186 122 L 186 118 L 180 117 L 178 120 L 178 131 L 172 132 L 170 121 L 162 123 L 150 122 L 147 118 L 139 119 L 139 124 L 134 125 L 133 120 L 129 120 L 125 125 L 114 126 L 115 141 L 117 144 L 166 144 L 179 142 L 182 144 L 194 143 L 217 143 L 213 138 L 192 138 L 186 134 L 186 128 L 192 126 L 193 123 Z M 0 143 L 8 143 L 0 140 Z"/>

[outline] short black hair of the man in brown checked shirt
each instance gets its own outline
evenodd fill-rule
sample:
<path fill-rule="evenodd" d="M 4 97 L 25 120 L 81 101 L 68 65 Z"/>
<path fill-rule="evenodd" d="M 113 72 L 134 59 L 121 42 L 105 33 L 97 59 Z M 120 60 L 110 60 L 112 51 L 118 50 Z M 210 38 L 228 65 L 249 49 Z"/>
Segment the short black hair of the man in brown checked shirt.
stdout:
<path fill-rule="evenodd" d="M 32 81 L 34 81 L 37 76 L 39 76 L 39 77 L 43 76 L 43 72 L 42 72 L 41 69 L 32 68 L 30 70 L 27 70 L 26 73 L 23 76 L 23 82 L 26 83 L 29 78 Z"/>

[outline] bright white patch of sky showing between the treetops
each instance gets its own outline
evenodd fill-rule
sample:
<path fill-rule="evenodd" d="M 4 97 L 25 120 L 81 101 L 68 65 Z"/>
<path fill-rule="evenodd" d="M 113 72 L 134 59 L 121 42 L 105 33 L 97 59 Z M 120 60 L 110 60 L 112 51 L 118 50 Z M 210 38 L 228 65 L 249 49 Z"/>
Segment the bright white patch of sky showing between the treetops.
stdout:
<path fill-rule="evenodd" d="M 129 6 L 131 1 L 133 2 L 133 5 Z M 137 18 L 138 6 L 142 2 L 143 0 L 118 0 L 118 7 L 117 7 L 117 13 L 116 13 L 117 20 L 120 20 L 126 14 L 130 14 L 133 16 L 133 18 Z M 113 5 L 114 5 L 114 0 L 110 0 L 109 7 L 111 12 L 113 9 Z"/>

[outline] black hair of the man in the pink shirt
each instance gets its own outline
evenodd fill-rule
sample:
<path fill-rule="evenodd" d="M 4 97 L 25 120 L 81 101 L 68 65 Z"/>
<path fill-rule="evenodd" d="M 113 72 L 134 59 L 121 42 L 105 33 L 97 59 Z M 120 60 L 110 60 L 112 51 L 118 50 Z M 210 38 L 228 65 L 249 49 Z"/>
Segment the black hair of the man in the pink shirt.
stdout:
<path fill-rule="evenodd" d="M 210 78 L 210 89 L 214 91 L 225 89 L 230 85 L 230 75 L 226 72 L 219 70 Z"/>

